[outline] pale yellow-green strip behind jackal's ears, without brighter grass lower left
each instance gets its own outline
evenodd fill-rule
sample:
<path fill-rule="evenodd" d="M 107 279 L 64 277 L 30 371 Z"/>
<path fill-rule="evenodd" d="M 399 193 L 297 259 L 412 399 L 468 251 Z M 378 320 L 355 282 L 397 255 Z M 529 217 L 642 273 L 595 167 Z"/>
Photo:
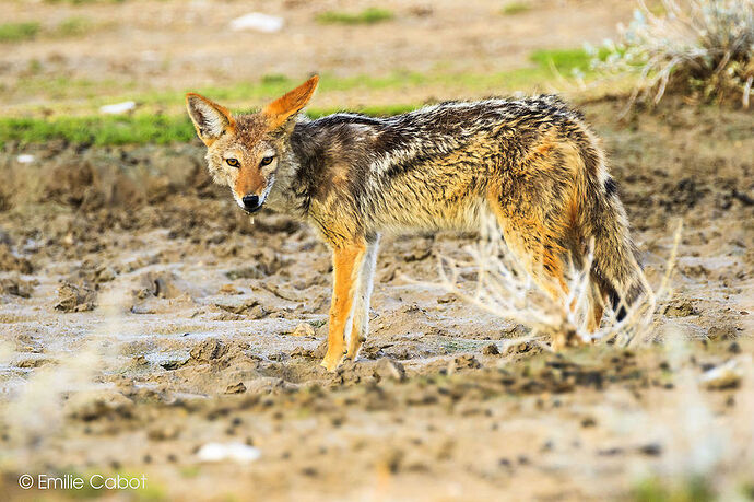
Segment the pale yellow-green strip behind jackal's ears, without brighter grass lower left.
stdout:
<path fill-rule="evenodd" d="M 555 77 L 553 68 L 561 74 L 569 74 L 573 69 L 578 69 L 581 77 L 592 73 L 589 61 L 590 56 L 584 49 L 573 50 L 538 50 L 531 56 L 534 66 L 497 73 L 467 73 L 452 71 L 433 71 L 417 73 L 409 71 L 396 71 L 387 75 L 354 75 L 335 77 L 321 74 L 319 83 L 320 93 L 349 92 L 354 90 L 410 90 L 441 87 L 450 94 L 494 94 L 502 95 L 513 91 L 531 91 L 552 81 Z M 552 61 L 552 63 L 551 63 Z M 304 78 L 292 79 L 282 74 L 268 74 L 257 82 L 238 82 L 229 86 L 209 86 L 200 89 L 187 89 L 198 92 L 211 100 L 217 101 L 235 110 L 244 110 L 245 106 L 259 105 L 273 100 L 295 85 L 304 81 Z M 177 108 L 184 106 L 184 93 L 176 91 L 140 91 L 142 85 L 136 81 L 93 82 L 67 77 L 50 78 L 35 72 L 19 80 L 16 85 L 0 89 L 0 100 L 7 103 L 19 102 L 24 96 L 34 96 L 48 102 L 55 102 L 57 113 L 86 113 L 81 108 L 80 101 L 87 100 L 86 108 L 95 110 L 104 104 L 120 101 L 137 101 L 142 109 L 168 109 L 177 113 Z M 107 94 L 103 94 L 106 90 Z M 75 101 L 70 105 L 66 100 Z M 240 106 L 239 106 L 240 105 Z M 388 114 L 402 113 L 410 106 L 400 103 L 394 106 L 381 106 L 379 109 L 367 107 L 365 113 Z M 47 105 L 48 107 L 50 105 Z M 27 109 L 28 110 L 28 109 Z M 31 110 L 28 110 L 31 112 Z"/>

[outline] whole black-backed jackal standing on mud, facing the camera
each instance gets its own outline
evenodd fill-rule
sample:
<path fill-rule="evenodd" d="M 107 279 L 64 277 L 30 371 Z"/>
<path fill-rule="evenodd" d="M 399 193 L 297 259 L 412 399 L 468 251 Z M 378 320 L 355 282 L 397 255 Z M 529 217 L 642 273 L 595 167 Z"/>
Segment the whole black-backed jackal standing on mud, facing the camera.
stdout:
<path fill-rule="evenodd" d="M 247 212 L 307 220 L 332 247 L 328 350 L 332 371 L 367 334 L 379 236 L 478 230 L 496 217 L 509 249 L 555 300 L 564 257 L 593 243 L 591 328 L 603 301 L 643 293 L 625 211 L 581 115 L 555 96 L 450 102 L 388 118 L 299 112 L 313 77 L 259 113 L 232 115 L 198 94 L 187 107 L 215 182 Z M 623 311 L 624 312 L 624 311 Z M 621 312 L 618 312 L 618 317 Z"/>

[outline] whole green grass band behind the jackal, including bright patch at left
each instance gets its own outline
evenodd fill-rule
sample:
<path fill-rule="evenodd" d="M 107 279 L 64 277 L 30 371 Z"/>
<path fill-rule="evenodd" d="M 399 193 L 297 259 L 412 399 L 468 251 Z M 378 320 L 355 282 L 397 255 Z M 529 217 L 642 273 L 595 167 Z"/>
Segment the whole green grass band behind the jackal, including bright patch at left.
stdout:
<path fill-rule="evenodd" d="M 416 87 L 440 87 L 449 93 L 491 93 L 506 94 L 517 90 L 531 90 L 545 84 L 554 77 L 553 67 L 558 72 L 578 69 L 589 73 L 589 56 L 586 50 L 540 50 L 532 55 L 537 65 L 497 73 L 452 73 L 452 72 L 394 72 L 382 77 L 356 75 L 339 78 L 321 75 L 320 92 L 343 92 L 353 90 L 409 90 Z M 552 61 L 552 63 L 551 63 Z M 217 101 L 238 112 L 237 104 L 260 104 L 293 89 L 304 79 L 291 79 L 281 74 L 264 75 L 258 82 L 240 82 L 227 87 L 203 87 L 196 90 L 202 95 Z M 22 143 L 42 143 L 52 139 L 63 139 L 71 143 L 90 144 L 138 144 L 185 142 L 195 137 L 187 116 L 184 113 L 184 93 L 176 91 L 129 91 L 118 95 L 98 95 L 105 82 L 71 80 L 64 77 L 49 78 L 45 74 L 32 74 L 21 79 L 14 89 L 0 91 L 3 101 L 12 102 L 19 92 L 30 95 L 44 95 L 49 101 L 58 101 L 56 114 L 75 112 L 90 113 L 85 116 L 42 117 L 0 117 L 0 145 L 8 141 Z M 136 84 L 113 82 L 113 87 L 133 90 Z M 21 90 L 21 91 L 20 91 Z M 122 91 L 121 91 L 122 92 Z M 86 109 L 80 104 L 75 108 L 66 108 L 59 103 L 64 98 L 86 98 Z M 128 116 L 94 115 L 103 104 L 132 100 L 139 103 L 139 110 Z M 378 106 L 365 106 L 355 112 L 370 116 L 390 116 L 410 112 L 421 103 L 397 103 Z M 308 108 L 311 118 L 318 118 L 341 110 L 342 108 Z M 157 113 L 163 110 L 163 113 Z M 166 110 L 166 112 L 165 112 Z M 31 110 L 27 110 L 31 112 Z M 243 109 L 241 109 L 243 112 Z"/>

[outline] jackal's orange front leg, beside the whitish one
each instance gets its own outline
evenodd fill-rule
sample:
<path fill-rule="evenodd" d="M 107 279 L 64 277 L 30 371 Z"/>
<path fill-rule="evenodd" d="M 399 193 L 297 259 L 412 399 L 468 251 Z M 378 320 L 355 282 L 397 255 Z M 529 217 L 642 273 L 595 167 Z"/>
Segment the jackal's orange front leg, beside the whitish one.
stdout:
<path fill-rule="evenodd" d="M 334 371 L 345 357 L 346 330 L 351 329 L 351 313 L 356 279 L 366 245 L 363 242 L 339 246 L 333 249 L 332 266 L 334 283 L 332 287 L 332 304 L 330 305 L 330 325 L 328 329 L 327 353 L 322 366 Z"/>

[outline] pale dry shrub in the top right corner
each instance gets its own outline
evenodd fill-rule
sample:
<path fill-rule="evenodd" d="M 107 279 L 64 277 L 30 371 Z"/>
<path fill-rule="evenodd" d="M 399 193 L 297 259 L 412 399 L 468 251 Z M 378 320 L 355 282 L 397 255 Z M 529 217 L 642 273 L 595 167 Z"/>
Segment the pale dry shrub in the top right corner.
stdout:
<path fill-rule="evenodd" d="M 735 97 L 747 108 L 754 81 L 754 0 L 661 0 L 639 10 L 620 44 L 608 43 L 596 66 L 638 73 L 637 98 L 659 103 L 669 90 L 703 101 Z M 597 54 L 596 54 L 597 55 Z"/>

